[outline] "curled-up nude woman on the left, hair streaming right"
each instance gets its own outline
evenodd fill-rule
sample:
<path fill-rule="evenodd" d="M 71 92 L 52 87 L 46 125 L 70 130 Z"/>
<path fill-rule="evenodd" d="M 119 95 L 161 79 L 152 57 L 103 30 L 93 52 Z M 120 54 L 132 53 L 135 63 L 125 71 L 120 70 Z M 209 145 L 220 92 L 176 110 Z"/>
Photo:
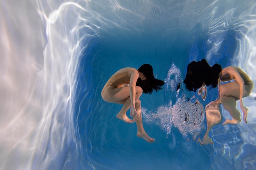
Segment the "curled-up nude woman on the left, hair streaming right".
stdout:
<path fill-rule="evenodd" d="M 123 105 L 117 118 L 126 123 L 136 122 L 137 136 L 147 142 L 154 142 L 155 139 L 148 136 L 142 124 L 141 101 L 139 97 L 142 92 L 151 94 L 153 89 L 162 88 L 164 81 L 154 77 L 153 68 L 149 64 L 141 65 L 137 70 L 135 68 L 122 68 L 113 74 L 106 85 L 103 87 L 101 96 L 104 101 Z M 132 120 L 126 116 L 130 109 Z"/>

